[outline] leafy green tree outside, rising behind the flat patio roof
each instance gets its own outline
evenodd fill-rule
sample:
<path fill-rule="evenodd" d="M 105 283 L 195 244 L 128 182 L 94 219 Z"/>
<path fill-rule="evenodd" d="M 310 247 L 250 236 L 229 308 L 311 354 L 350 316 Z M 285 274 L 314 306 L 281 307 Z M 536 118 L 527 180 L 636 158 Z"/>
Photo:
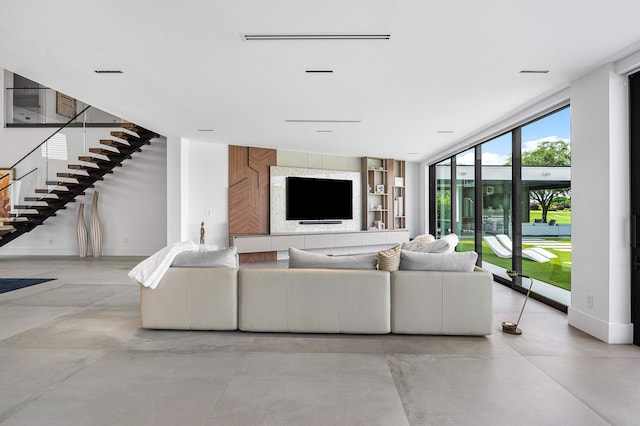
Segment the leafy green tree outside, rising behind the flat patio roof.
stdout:
<path fill-rule="evenodd" d="M 566 141 L 544 141 L 533 151 L 522 153 L 523 166 L 549 166 L 568 167 L 571 166 L 571 147 Z M 542 209 L 542 221 L 547 222 L 547 213 L 554 199 L 558 197 L 569 198 L 571 188 L 540 188 L 529 192 L 529 197 L 540 204 Z"/>

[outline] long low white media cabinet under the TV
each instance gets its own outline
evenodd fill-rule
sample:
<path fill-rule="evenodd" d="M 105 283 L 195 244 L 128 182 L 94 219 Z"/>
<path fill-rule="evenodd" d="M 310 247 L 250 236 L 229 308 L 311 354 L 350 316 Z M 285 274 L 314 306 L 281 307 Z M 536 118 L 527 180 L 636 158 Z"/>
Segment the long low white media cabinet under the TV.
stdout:
<path fill-rule="evenodd" d="M 378 246 L 409 241 L 407 229 L 387 231 L 316 232 L 271 235 L 232 235 L 229 244 L 238 253 L 286 251 L 289 247 L 303 250 L 351 248 L 362 253 L 377 251 Z"/>

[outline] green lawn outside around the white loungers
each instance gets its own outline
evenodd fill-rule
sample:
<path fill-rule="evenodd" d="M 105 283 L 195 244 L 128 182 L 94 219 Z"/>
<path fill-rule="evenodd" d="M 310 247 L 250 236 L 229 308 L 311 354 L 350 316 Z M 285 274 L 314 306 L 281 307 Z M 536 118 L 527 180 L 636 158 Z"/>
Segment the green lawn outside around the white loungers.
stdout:
<path fill-rule="evenodd" d="M 550 212 L 551 213 L 551 212 Z M 570 242 L 571 238 L 546 238 L 558 242 Z M 524 244 L 523 248 L 533 247 Z M 458 251 L 472 251 L 473 239 L 460 239 Z M 556 254 L 556 259 L 549 262 L 538 263 L 529 259 L 522 259 L 522 273 L 544 281 L 556 287 L 571 291 L 571 252 L 546 249 Z M 496 256 L 486 242 L 482 242 L 482 260 L 504 269 L 511 269 L 511 259 L 503 259 Z M 569 262 L 569 263 L 566 263 Z"/>

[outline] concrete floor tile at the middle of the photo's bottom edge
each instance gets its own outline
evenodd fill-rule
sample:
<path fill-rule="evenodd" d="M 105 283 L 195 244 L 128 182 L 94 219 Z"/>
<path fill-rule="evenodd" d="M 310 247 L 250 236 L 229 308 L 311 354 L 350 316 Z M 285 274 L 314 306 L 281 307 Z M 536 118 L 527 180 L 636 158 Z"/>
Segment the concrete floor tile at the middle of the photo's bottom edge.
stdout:
<path fill-rule="evenodd" d="M 408 423 L 381 354 L 248 353 L 207 424 Z"/>

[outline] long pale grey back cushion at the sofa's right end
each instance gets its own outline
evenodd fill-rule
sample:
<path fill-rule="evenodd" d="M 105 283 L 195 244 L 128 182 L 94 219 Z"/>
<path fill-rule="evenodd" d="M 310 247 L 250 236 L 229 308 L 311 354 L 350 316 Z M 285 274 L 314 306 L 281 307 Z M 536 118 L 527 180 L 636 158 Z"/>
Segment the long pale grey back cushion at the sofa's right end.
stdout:
<path fill-rule="evenodd" d="M 478 253 L 475 251 L 420 253 L 402 250 L 400 270 L 473 272 L 477 260 Z"/>

